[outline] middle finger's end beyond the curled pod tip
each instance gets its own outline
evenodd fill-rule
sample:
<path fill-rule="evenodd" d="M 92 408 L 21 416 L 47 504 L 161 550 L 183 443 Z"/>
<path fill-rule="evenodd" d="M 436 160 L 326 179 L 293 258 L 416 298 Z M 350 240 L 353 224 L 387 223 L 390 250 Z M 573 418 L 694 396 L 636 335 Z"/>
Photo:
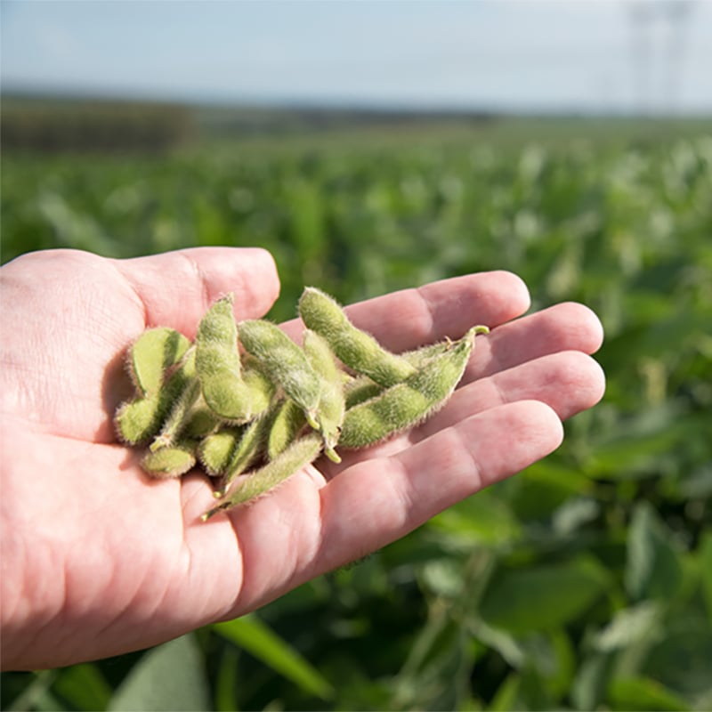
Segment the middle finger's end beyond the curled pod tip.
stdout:
<path fill-rule="evenodd" d="M 602 343 L 601 321 L 587 306 L 556 304 L 478 337 L 462 383 L 472 383 L 549 353 L 595 353 Z"/>

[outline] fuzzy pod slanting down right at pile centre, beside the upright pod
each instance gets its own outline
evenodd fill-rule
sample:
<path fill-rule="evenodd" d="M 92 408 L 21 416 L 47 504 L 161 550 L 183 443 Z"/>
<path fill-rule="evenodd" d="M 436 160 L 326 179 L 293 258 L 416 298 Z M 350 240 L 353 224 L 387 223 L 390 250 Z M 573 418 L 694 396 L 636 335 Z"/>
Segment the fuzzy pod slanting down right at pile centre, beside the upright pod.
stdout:
<path fill-rule="evenodd" d="M 248 353 L 263 364 L 271 379 L 303 410 L 307 422 L 316 425 L 321 381 L 306 355 L 279 327 L 255 319 L 239 324 L 239 340 Z"/>

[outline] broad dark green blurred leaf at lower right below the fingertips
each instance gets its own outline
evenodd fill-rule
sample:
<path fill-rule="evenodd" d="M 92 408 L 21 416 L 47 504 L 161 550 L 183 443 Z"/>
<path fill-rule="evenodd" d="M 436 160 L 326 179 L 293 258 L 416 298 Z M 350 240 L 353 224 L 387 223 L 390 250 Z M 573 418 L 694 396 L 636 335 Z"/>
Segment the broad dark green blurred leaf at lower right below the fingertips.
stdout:
<path fill-rule="evenodd" d="M 561 627 L 595 602 L 604 581 L 600 565 L 583 558 L 500 570 L 482 598 L 481 616 L 491 626 L 513 633 Z"/>

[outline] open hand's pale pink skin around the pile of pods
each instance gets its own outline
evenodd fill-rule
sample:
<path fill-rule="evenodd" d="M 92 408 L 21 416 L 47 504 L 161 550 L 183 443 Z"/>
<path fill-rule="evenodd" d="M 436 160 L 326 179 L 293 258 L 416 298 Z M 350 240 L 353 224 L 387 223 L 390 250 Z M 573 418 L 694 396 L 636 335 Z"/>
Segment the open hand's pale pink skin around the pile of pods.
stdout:
<path fill-rule="evenodd" d="M 529 295 L 510 273 L 356 304 L 353 323 L 394 352 L 475 323 L 493 331 L 477 337 L 461 387 L 425 425 L 341 465 L 322 458 L 203 523 L 214 505 L 206 477 L 153 481 L 141 453 L 116 442 L 111 416 L 132 392 L 125 348 L 155 326 L 194 338 L 229 291 L 237 319 L 263 316 L 279 293 L 271 256 L 46 251 L 6 264 L 0 288 L 4 669 L 142 649 L 263 606 L 545 457 L 562 418 L 603 395 L 587 355 L 603 338 L 595 315 L 562 303 L 516 319 Z M 298 321 L 284 328 L 299 340 Z"/>

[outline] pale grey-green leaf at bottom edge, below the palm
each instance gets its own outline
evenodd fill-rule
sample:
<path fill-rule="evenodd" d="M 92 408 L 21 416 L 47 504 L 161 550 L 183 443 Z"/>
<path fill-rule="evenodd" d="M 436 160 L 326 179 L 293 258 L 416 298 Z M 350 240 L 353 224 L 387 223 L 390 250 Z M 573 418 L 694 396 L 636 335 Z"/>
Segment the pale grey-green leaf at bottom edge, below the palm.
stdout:
<path fill-rule="evenodd" d="M 203 657 L 192 635 L 148 651 L 119 685 L 109 712 L 210 710 Z"/>

